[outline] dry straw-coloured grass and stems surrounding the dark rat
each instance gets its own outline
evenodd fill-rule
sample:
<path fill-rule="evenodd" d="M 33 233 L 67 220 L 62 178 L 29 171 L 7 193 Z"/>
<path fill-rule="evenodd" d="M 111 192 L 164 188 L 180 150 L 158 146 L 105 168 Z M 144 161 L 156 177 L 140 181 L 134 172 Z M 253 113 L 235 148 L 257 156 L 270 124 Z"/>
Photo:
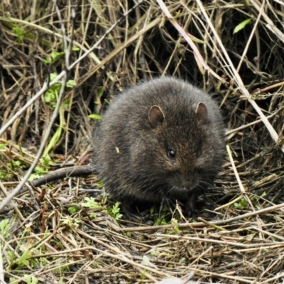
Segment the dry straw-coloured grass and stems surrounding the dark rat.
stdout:
<path fill-rule="evenodd" d="M 123 17 L 133 1 L 80 1 L 73 31 L 70 2 L 58 1 L 60 21 L 52 1 L 1 1 L 0 207 L 42 152 L 50 168 L 40 158 L 36 173 L 87 160 L 94 124 L 88 116 L 106 100 L 129 84 L 174 75 L 216 97 L 228 126 L 228 158 L 200 217 L 185 220 L 176 212 L 177 224 L 154 215 L 157 226 L 116 221 L 95 176 L 60 180 L 2 208 L 0 280 L 155 283 L 194 271 L 202 282 L 283 283 L 283 1 L 165 1 L 168 12 L 158 2 L 144 1 Z M 253 23 L 233 35 L 248 18 Z M 64 41 L 79 49 L 67 56 Z M 48 102 L 48 84 L 56 87 L 45 84 L 49 74 L 66 82 L 66 65 L 92 47 L 69 70 L 77 86 L 61 93 L 59 86 L 62 104 Z M 108 211 L 84 207 L 85 197 Z"/>

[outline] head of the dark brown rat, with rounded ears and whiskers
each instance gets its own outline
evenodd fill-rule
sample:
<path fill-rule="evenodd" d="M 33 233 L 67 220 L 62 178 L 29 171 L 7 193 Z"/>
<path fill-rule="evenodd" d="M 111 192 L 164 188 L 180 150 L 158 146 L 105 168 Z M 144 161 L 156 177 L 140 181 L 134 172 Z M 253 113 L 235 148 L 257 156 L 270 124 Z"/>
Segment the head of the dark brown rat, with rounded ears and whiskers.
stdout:
<path fill-rule="evenodd" d="M 210 129 L 204 103 L 179 104 L 175 109 L 153 105 L 148 126 L 141 146 L 135 146 L 135 160 L 139 156 L 143 163 L 137 170 L 146 183 L 151 181 L 146 190 L 182 198 L 212 182 L 221 163 L 218 147 L 222 147 L 222 137 Z"/>

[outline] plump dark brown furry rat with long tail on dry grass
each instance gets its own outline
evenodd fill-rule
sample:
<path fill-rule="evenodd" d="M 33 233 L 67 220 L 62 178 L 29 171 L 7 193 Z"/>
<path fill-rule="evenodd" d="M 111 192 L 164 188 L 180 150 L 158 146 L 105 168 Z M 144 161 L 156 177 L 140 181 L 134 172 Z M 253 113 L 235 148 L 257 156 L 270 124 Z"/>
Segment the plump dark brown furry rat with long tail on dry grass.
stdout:
<path fill-rule="evenodd" d="M 50 173 L 51 181 L 98 173 L 123 204 L 178 200 L 185 214 L 221 170 L 224 124 L 217 104 L 201 89 L 160 77 L 119 94 L 94 135 L 92 165 Z M 37 180 L 35 180 L 37 182 Z M 35 182 L 32 185 L 35 185 Z"/>

